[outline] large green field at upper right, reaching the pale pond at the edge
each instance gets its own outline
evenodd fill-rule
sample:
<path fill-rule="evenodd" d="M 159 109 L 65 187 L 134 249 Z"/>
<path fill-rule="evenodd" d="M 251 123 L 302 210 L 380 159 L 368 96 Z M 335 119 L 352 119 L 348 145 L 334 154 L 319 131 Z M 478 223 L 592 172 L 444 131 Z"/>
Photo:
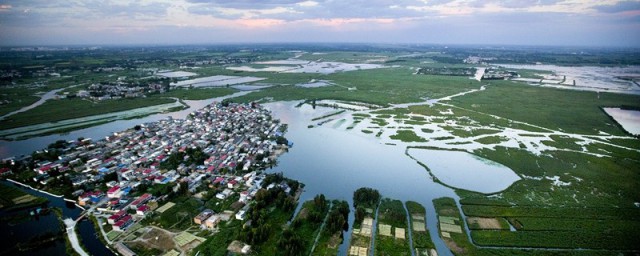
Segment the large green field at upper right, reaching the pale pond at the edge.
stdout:
<path fill-rule="evenodd" d="M 456 106 L 565 132 L 625 135 L 600 107 L 640 107 L 640 96 L 541 88 L 492 82 L 481 93 L 454 98 Z"/>

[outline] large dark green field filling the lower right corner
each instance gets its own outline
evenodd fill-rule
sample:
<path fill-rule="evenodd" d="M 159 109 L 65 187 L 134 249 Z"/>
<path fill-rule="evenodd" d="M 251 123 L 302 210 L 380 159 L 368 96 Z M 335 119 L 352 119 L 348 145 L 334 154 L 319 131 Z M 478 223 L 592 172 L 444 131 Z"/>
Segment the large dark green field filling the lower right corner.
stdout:
<path fill-rule="evenodd" d="M 571 138 L 552 138 L 565 148 L 575 143 Z M 614 157 L 565 151 L 535 156 L 502 147 L 476 151 L 518 174 L 540 178 L 518 181 L 500 198 L 458 191 L 467 216 L 505 218 L 518 229 L 472 230 L 474 241 L 507 247 L 637 250 L 640 239 L 632 234 L 640 229 L 640 209 L 633 205 L 639 200 L 633 191 L 640 186 L 640 177 L 632 170 L 640 156 L 615 150 L 619 155 Z M 554 176 L 569 185 L 557 186 L 545 178 Z"/>

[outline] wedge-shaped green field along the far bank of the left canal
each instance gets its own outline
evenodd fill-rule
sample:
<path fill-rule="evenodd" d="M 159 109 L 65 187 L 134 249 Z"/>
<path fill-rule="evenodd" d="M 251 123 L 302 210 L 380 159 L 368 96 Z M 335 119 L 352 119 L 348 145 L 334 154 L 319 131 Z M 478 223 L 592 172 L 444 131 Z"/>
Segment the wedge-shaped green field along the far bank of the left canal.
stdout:
<path fill-rule="evenodd" d="M 152 97 L 106 100 L 97 103 L 82 99 L 48 100 L 29 111 L 12 115 L 0 121 L 0 129 L 56 122 L 172 102 L 174 102 L 172 99 Z"/>

